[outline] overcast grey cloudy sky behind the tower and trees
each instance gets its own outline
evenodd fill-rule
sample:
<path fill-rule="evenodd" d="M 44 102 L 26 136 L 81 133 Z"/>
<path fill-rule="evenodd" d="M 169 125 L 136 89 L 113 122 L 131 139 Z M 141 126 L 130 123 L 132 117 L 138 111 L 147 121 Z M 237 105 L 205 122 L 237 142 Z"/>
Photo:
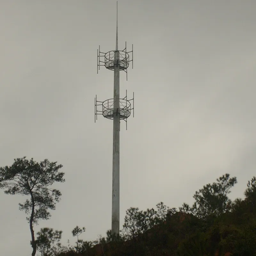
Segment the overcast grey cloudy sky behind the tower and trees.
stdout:
<path fill-rule="evenodd" d="M 243 197 L 256 164 L 256 1 L 118 2 L 119 47 L 134 46 L 121 97 L 135 94 L 121 123 L 120 218 L 125 210 L 193 203 L 228 172 Z M 0 0 L 0 166 L 27 156 L 63 164 L 62 200 L 42 227 L 62 243 L 111 228 L 112 122 L 94 123 L 94 97 L 113 95 L 113 72 L 97 75 L 97 48 L 115 49 L 116 1 Z M 1 255 L 31 253 L 18 203 L 0 191 Z"/>

